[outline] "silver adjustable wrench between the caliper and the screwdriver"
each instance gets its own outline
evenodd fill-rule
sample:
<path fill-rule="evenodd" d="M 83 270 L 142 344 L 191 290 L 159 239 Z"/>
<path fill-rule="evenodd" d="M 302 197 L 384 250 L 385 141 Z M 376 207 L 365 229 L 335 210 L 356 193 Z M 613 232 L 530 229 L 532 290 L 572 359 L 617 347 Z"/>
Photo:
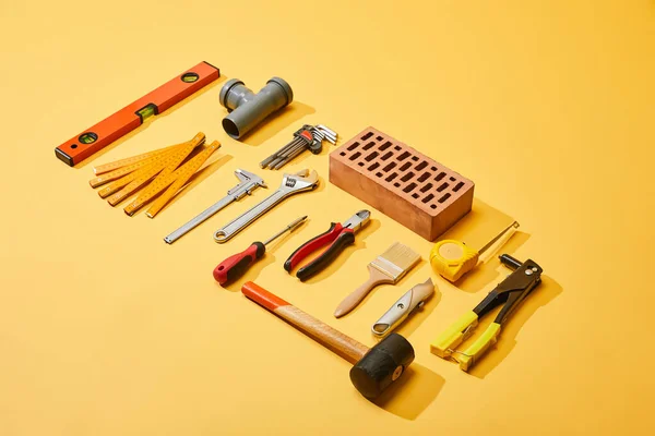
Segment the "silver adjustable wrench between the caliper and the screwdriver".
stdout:
<path fill-rule="evenodd" d="M 246 211 L 240 217 L 234 219 L 214 233 L 214 241 L 218 243 L 227 242 L 235 234 L 243 230 L 259 217 L 271 210 L 278 203 L 288 196 L 305 191 L 314 190 L 319 185 L 319 174 L 315 171 L 302 170 L 295 174 L 284 174 L 282 185 L 277 191 L 266 197 L 257 206 Z"/>

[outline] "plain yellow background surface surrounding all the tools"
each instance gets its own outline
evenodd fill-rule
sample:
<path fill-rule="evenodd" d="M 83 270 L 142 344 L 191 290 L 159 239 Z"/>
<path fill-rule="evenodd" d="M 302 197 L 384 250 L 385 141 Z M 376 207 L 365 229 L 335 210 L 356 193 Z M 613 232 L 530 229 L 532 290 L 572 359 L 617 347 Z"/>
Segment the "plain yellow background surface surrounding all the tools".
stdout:
<path fill-rule="evenodd" d="M 3 1 L 0 5 L 0 434 L 650 434 L 653 411 L 655 2 Z M 219 83 L 71 169 L 52 149 L 206 60 Z M 296 101 L 243 143 L 221 128 L 226 77 Z M 368 125 L 476 183 L 453 234 L 472 245 L 511 218 L 508 252 L 544 283 L 467 375 L 429 342 L 504 277 L 491 262 L 456 289 L 422 262 L 336 320 L 366 265 L 431 243 L 372 210 L 358 243 L 300 283 L 281 267 L 306 239 L 366 207 L 330 185 L 226 245 L 212 231 L 282 172 L 257 162 L 302 123 L 347 141 Z M 88 187 L 93 165 L 191 138 L 223 147 L 206 178 L 151 220 Z M 229 157 L 226 157 L 229 156 Z M 172 246 L 162 238 L 223 197 L 245 168 L 259 190 Z M 294 218 L 309 223 L 247 276 L 371 346 L 370 325 L 431 276 L 438 296 L 398 331 L 412 373 L 379 404 L 349 364 L 211 276 Z M 511 217 L 511 218 L 510 218 Z M 651 432 L 647 431 L 651 428 Z"/>

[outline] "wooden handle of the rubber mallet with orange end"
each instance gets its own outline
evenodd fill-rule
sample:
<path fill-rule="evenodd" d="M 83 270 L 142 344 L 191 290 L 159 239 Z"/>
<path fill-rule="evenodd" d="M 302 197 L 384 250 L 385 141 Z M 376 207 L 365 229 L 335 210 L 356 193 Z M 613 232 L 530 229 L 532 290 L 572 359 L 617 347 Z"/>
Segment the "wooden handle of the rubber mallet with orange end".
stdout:
<path fill-rule="evenodd" d="M 252 281 L 243 283 L 241 292 L 353 364 L 359 362 L 369 352 L 369 348 L 365 344 L 302 312 Z"/>

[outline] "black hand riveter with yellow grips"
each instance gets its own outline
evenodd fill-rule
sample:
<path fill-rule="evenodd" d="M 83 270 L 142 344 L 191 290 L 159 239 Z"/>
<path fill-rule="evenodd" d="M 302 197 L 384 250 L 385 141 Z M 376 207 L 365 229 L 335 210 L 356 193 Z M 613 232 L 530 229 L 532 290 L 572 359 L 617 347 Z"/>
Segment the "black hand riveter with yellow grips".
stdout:
<path fill-rule="evenodd" d="M 450 328 L 442 332 L 431 344 L 430 351 L 442 359 L 460 363 L 460 368 L 468 371 L 479 358 L 498 340 L 502 323 L 521 302 L 541 282 L 541 267 L 534 261 L 523 264 L 509 254 L 500 256 L 500 262 L 514 271 L 501 281 L 473 311 L 464 314 Z M 496 319 L 485 332 L 466 350 L 457 347 L 469 338 L 478 325 L 478 319 L 504 304 Z"/>

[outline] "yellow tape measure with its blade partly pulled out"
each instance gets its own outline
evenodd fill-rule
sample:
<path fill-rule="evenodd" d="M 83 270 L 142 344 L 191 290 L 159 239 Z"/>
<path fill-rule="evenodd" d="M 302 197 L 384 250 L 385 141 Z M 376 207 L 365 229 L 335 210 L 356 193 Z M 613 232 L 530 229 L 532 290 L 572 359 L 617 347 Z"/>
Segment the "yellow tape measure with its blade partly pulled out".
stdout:
<path fill-rule="evenodd" d="M 430 265 L 432 265 L 434 271 L 439 272 L 444 279 L 453 282 L 457 281 L 462 276 L 478 265 L 478 261 L 480 261 L 483 253 L 496 245 L 501 238 L 503 239 L 500 243 L 502 246 L 510 238 L 512 238 L 512 234 L 517 228 L 519 222 L 512 222 L 511 226 L 500 232 L 479 251 L 469 249 L 464 242 L 454 239 L 439 241 L 430 251 Z"/>

